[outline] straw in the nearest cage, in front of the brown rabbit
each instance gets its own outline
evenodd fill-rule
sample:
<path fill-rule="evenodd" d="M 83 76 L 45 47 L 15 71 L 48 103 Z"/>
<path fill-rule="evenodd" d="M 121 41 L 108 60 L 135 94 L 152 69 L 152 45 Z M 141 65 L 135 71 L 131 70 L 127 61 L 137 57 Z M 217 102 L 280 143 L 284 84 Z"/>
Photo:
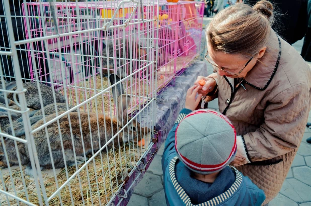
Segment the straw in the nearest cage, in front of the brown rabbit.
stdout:
<path fill-rule="evenodd" d="M 102 205 L 107 204 L 113 194 L 118 190 L 118 186 L 120 186 L 122 180 L 126 177 L 128 169 L 133 168 L 135 162 L 139 160 L 139 157 L 143 151 L 145 151 L 143 148 L 137 148 L 137 145 L 135 145 L 134 148 L 133 145 L 131 147 L 125 145 L 125 149 L 123 148 L 123 145 L 120 147 L 120 149 L 112 148 L 108 152 L 103 151 L 101 154 L 102 158 L 100 157 L 100 154 L 95 157 L 95 167 L 93 161 L 91 161 L 87 167 L 79 173 L 79 175 L 75 176 L 70 181 L 72 198 L 75 205 L 82 205 L 83 200 L 85 205 L 92 205 L 92 201 L 93 205 L 99 205 L 99 202 L 101 202 Z M 82 165 L 79 165 L 78 167 L 80 168 L 81 166 Z M 59 172 L 57 174 L 57 182 L 58 185 L 61 186 L 67 180 L 66 171 L 65 169 L 58 169 L 57 171 Z M 69 177 L 71 177 L 74 172 L 76 172 L 75 166 L 68 167 Z M 25 175 L 25 169 L 23 169 L 23 173 Z M 43 170 L 42 173 L 46 195 L 47 197 L 50 197 L 57 189 L 56 181 L 52 170 Z M 19 168 L 12 169 L 12 174 L 17 196 L 26 200 L 25 189 Z M 89 174 L 89 179 L 87 174 Z M 80 178 L 82 190 L 80 189 L 78 176 Z M 3 179 L 7 191 L 14 194 L 9 173 L 3 172 Z M 39 205 L 38 193 L 33 178 L 25 176 L 24 179 L 27 185 L 29 202 Z M 0 182 L 0 187 L 3 188 L 2 182 Z M 42 192 L 39 191 L 39 193 L 43 199 Z M 63 188 L 59 194 L 63 205 L 72 205 L 68 185 Z M 9 201 L 11 205 L 17 204 L 14 199 L 9 199 Z M 0 203 L 1 205 L 8 205 L 6 198 L 1 195 Z M 49 203 L 50 205 L 61 205 L 59 196 L 56 195 Z M 20 205 L 25 204 L 20 202 Z"/>

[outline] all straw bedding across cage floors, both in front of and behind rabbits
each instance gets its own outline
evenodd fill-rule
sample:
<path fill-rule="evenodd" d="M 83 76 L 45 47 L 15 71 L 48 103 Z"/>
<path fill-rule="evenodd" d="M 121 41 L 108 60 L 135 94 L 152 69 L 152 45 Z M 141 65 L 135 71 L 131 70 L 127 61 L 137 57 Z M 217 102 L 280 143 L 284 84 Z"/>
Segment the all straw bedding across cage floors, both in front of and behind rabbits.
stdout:
<path fill-rule="evenodd" d="M 178 59 L 177 65 L 180 65 L 181 62 L 184 62 L 181 58 Z M 192 61 L 193 62 L 193 61 Z M 191 64 L 191 63 L 190 63 Z M 165 67 L 162 67 L 158 70 L 157 85 L 160 90 L 166 86 L 166 83 L 169 82 L 174 76 L 169 76 L 168 71 L 172 68 L 172 64 L 168 64 Z M 177 70 L 182 69 L 183 67 L 177 68 Z M 135 78 L 135 77 L 133 77 Z M 95 82 L 94 82 L 95 81 Z M 144 81 L 144 82 L 143 82 Z M 137 95 L 139 97 L 132 98 L 132 110 L 139 109 L 141 104 L 143 104 L 150 95 L 152 91 L 150 87 L 149 80 L 142 80 L 140 84 L 133 84 L 135 81 L 127 81 L 124 85 L 125 90 L 128 94 Z M 69 100 L 69 103 L 72 105 L 77 105 L 86 99 L 94 95 L 94 83 L 96 88 L 96 93 L 108 88 L 108 79 L 101 78 L 97 75 L 95 78 L 92 77 L 89 80 L 79 83 L 77 87 L 81 87 L 76 90 L 75 87 L 67 88 L 66 93 Z M 140 86 L 140 87 L 139 87 Z M 85 89 L 86 88 L 86 89 Z M 133 93 L 131 93 L 131 91 Z M 135 91 L 135 93 L 134 93 Z M 141 97 L 142 96 L 142 97 Z M 105 92 L 103 95 L 99 95 L 96 99 L 91 100 L 80 108 L 80 111 L 105 111 L 106 115 L 113 116 L 114 114 L 114 103 L 110 91 Z M 110 109 L 111 107 L 111 109 Z M 146 143 L 150 142 L 150 136 L 145 140 Z M 101 202 L 102 205 L 108 203 L 113 194 L 118 190 L 118 186 L 122 183 L 122 180 L 126 177 L 126 174 L 130 168 L 133 168 L 135 163 L 139 160 L 143 152 L 145 152 L 148 145 L 145 145 L 143 148 L 133 145 L 120 145 L 120 148 L 116 145 L 116 148 L 111 148 L 109 151 L 102 151 L 101 154 L 97 155 L 94 158 L 94 161 L 91 161 L 86 168 L 84 168 L 79 175 L 75 176 L 65 188 L 63 188 L 59 195 L 56 195 L 49 203 L 50 205 L 72 205 L 72 200 L 75 205 L 82 205 L 83 201 L 85 205 L 99 205 Z M 89 156 L 91 157 L 91 155 Z M 82 165 L 78 165 L 80 168 Z M 38 193 L 42 196 L 42 191 L 37 192 L 35 182 L 33 178 L 25 176 L 25 168 L 23 167 L 23 174 L 21 174 L 19 167 L 14 166 L 11 168 L 13 174 L 13 182 L 17 192 L 17 196 L 27 200 L 26 192 L 28 193 L 29 202 L 38 205 Z M 6 190 L 14 194 L 11 178 L 8 172 L 8 169 L 1 169 L 3 182 L 0 179 L 0 188 L 6 188 Z M 67 180 L 66 170 L 57 169 L 57 183 L 58 186 L 63 185 Z M 75 166 L 68 167 L 68 177 L 71 177 L 76 172 Z M 46 188 L 46 195 L 50 197 L 56 190 L 56 180 L 53 175 L 52 170 L 43 170 L 43 179 L 44 186 Z M 89 174 L 89 175 L 87 175 Z M 22 175 L 25 179 L 25 184 L 27 191 L 25 191 Z M 79 176 L 79 178 L 78 178 Z M 80 181 L 80 183 L 79 183 Z M 80 184 L 81 188 L 80 189 Z M 70 195 L 70 189 L 72 196 Z M 91 195 L 92 194 L 92 195 Z M 59 198 L 59 196 L 61 198 Z M 91 198 L 92 196 L 92 198 Z M 17 205 L 17 201 L 10 198 L 11 205 Z M 7 199 L 3 194 L 0 194 L 0 204 L 8 205 Z M 20 202 L 20 205 L 25 205 Z"/>

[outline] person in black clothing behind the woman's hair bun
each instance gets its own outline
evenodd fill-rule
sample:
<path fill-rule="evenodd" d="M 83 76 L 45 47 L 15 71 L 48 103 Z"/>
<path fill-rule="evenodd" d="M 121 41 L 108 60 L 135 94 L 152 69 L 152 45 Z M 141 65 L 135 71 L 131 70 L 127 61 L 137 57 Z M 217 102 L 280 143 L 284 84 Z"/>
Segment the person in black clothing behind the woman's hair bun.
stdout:
<path fill-rule="evenodd" d="M 259 0 L 245 0 L 244 3 L 254 6 Z M 278 21 L 272 29 L 289 44 L 301 40 L 307 30 L 307 0 L 271 0 L 279 13 Z"/>

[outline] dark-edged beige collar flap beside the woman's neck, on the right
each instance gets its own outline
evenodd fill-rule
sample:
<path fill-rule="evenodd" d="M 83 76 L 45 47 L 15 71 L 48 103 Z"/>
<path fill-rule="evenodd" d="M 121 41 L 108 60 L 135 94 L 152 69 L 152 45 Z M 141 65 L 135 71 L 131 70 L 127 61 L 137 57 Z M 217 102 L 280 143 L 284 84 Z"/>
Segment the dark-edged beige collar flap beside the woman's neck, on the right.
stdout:
<path fill-rule="evenodd" d="M 267 49 L 252 70 L 250 70 L 244 81 L 246 84 L 259 89 L 265 90 L 270 84 L 274 74 L 276 73 L 279 63 L 278 57 L 281 56 L 281 44 L 279 43 L 276 33 L 271 30 L 271 35 L 267 43 Z"/>

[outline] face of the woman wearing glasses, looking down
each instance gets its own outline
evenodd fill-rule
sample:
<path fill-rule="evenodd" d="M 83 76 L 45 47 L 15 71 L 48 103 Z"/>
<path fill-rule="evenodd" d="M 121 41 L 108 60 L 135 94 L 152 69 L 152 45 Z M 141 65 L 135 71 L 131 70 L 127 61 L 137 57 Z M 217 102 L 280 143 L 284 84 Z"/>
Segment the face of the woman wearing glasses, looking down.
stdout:
<path fill-rule="evenodd" d="M 209 57 L 215 65 L 218 65 L 219 68 L 222 68 L 226 71 L 229 71 L 233 74 L 238 74 L 246 65 L 246 63 L 250 60 L 250 58 L 246 58 L 239 54 L 225 54 L 223 52 L 215 52 L 213 51 L 212 47 L 208 47 L 208 53 Z M 266 51 L 266 47 L 262 48 L 258 55 L 256 55 L 247 65 L 246 67 L 241 71 L 241 73 L 237 75 L 229 74 L 219 68 L 217 69 L 217 72 L 220 76 L 227 76 L 231 78 L 244 78 L 247 73 L 255 66 L 257 62 L 257 58 L 261 58 Z"/>

